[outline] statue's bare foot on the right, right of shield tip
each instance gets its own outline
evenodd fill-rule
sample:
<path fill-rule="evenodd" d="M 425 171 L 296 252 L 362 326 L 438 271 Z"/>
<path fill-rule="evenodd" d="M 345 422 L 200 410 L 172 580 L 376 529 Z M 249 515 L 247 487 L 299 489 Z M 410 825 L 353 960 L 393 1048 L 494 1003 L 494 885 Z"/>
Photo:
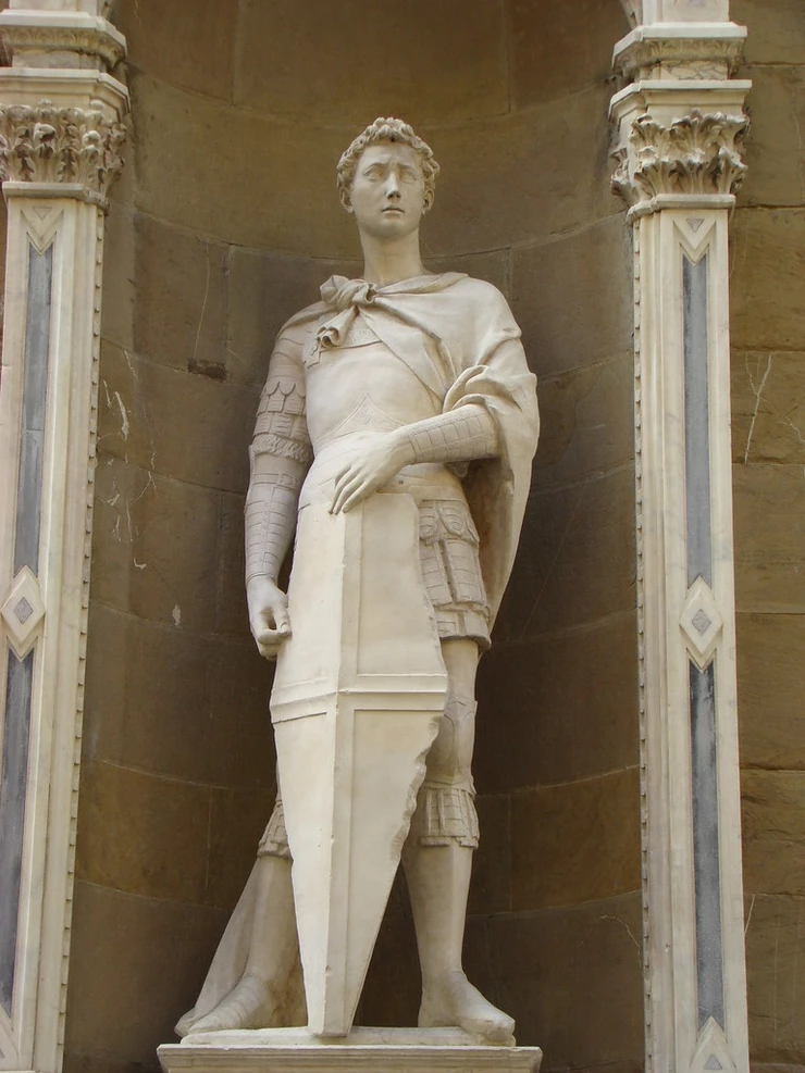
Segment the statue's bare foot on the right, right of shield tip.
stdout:
<path fill-rule="evenodd" d="M 445 973 L 423 988 L 419 1026 L 458 1026 L 481 1043 L 515 1046 L 513 1019 L 487 1002 L 460 970 Z"/>

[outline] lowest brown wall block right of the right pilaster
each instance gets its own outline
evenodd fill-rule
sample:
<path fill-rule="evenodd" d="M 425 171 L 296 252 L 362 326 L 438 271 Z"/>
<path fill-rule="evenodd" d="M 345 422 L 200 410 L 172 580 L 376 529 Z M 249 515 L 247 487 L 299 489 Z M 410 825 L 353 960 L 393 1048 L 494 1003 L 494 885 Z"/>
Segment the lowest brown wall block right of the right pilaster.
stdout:
<path fill-rule="evenodd" d="M 805 1064 L 805 899 L 746 898 L 746 983 L 752 1068 Z M 767 1066 L 768 1069 L 768 1066 Z M 770 1073 L 770 1071 L 769 1071 Z"/>

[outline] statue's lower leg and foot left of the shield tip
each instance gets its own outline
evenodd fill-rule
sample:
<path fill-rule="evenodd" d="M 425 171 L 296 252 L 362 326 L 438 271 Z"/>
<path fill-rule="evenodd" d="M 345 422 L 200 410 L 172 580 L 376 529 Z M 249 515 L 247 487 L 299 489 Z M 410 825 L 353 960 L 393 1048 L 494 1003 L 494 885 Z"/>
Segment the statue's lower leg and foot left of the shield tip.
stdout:
<path fill-rule="evenodd" d="M 230 1028 L 269 1028 L 296 1020 L 288 1010 L 298 990 L 298 940 L 282 801 L 277 798 L 269 826 L 260 841 L 256 864 L 257 891 L 243 976 L 233 990 L 191 1032 Z M 304 1018 L 300 1022 L 304 1023 Z"/>

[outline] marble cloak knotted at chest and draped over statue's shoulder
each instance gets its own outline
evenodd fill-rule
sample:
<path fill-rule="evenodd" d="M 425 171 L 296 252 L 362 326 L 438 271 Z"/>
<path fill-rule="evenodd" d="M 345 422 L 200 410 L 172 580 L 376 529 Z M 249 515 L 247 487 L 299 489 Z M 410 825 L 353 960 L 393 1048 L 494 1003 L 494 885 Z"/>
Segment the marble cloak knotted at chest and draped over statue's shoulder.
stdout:
<path fill-rule="evenodd" d="M 307 367 L 323 351 L 335 358 L 350 327 L 362 321 L 435 396 L 442 412 L 474 403 L 493 416 L 499 457 L 471 462 L 462 485 L 494 616 L 517 551 L 540 427 L 536 377 L 506 299 L 491 284 L 457 272 L 386 287 L 332 276 L 321 295 L 280 333 L 299 341 Z"/>

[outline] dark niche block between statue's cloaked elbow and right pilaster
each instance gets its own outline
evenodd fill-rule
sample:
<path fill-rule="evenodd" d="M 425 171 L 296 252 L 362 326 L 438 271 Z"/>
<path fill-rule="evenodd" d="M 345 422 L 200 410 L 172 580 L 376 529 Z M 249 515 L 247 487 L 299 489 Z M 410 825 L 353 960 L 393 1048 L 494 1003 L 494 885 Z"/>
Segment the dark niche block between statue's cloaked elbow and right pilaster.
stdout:
<path fill-rule="evenodd" d="M 634 354 L 540 380 L 540 450 L 534 486 L 565 485 L 634 458 Z"/>

